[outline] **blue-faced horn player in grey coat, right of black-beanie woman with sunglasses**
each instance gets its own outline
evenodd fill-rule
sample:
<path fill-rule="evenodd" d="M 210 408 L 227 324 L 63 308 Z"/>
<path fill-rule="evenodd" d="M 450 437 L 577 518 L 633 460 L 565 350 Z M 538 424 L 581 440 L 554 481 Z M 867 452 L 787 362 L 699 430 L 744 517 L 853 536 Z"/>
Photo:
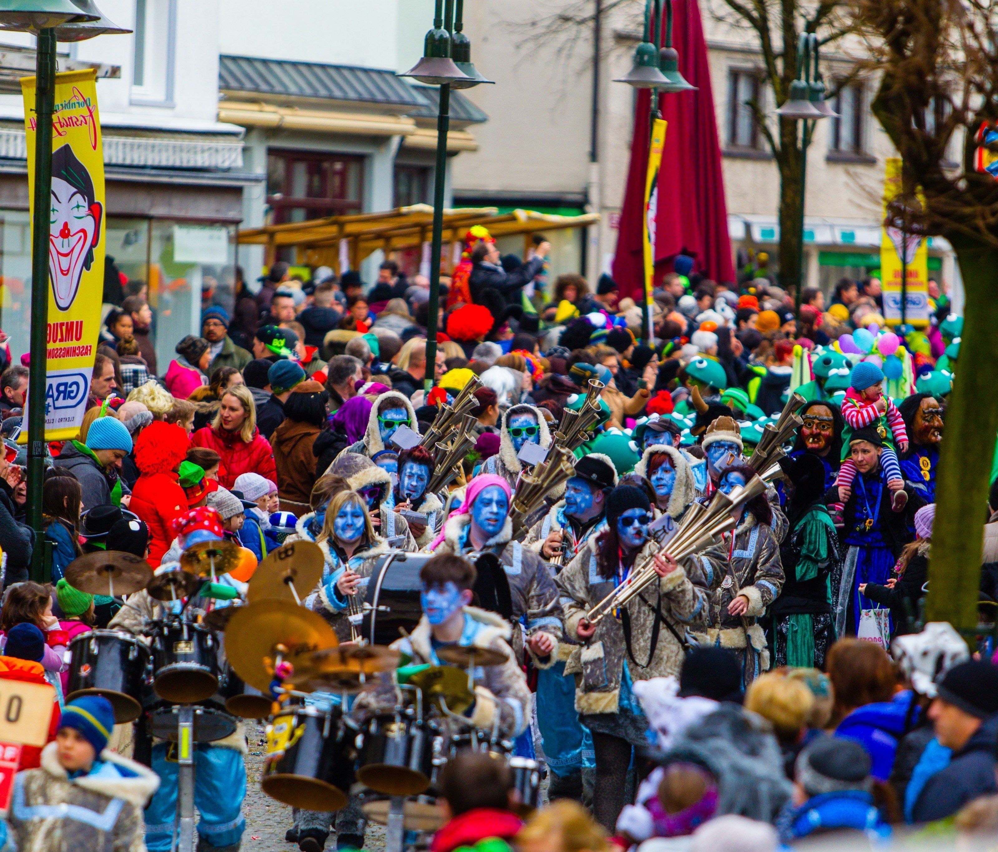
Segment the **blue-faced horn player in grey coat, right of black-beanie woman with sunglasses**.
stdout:
<path fill-rule="evenodd" d="M 718 490 L 731 493 L 755 475 L 748 464 L 721 471 Z M 742 679 L 749 683 L 769 668 L 769 650 L 758 619 L 783 587 L 779 539 L 773 533 L 772 507 L 764 495 L 742 509 L 739 525 L 706 552 L 717 563 L 705 564 L 704 580 L 711 589 L 707 628 L 696 634 L 702 645 L 733 648 L 742 655 Z"/>

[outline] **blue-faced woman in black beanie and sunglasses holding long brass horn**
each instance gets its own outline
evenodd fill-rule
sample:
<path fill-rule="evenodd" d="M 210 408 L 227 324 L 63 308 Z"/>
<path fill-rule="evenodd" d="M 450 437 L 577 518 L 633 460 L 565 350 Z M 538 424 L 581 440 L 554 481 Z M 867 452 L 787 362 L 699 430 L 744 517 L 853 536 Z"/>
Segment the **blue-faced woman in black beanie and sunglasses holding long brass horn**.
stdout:
<path fill-rule="evenodd" d="M 576 675 L 576 707 L 593 734 L 596 789 L 593 811 L 613 830 L 625 804 L 628 767 L 635 747 L 648 745 L 648 719 L 632 685 L 665 675 L 678 676 L 685 656 L 684 634 L 707 609 L 706 589 L 691 581 L 687 565 L 655 557 L 658 583 L 652 583 L 619 610 L 591 624 L 586 613 L 653 552 L 649 540 L 652 504 L 644 489 L 619 485 L 607 499 L 607 526 L 590 538 L 556 578 L 566 635 L 581 646 L 565 666 Z"/>

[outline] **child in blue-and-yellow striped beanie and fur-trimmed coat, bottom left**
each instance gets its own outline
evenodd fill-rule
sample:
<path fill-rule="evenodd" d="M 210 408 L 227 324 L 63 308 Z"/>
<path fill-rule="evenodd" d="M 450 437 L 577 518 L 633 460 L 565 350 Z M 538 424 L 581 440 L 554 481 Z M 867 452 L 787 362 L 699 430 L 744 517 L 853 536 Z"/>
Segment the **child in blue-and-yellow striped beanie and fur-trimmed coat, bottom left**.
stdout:
<path fill-rule="evenodd" d="M 8 815 L 21 852 L 144 850 L 142 809 L 160 779 L 145 766 L 107 750 L 115 724 L 111 703 L 87 695 L 69 704 L 41 767 L 14 779 Z"/>

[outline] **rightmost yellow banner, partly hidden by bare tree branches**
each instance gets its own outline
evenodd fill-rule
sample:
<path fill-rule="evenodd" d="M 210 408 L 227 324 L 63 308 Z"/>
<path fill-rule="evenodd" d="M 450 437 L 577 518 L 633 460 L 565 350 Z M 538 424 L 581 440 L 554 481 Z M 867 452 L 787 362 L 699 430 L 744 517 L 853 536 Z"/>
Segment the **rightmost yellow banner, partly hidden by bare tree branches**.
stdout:
<path fill-rule="evenodd" d="M 901 192 L 901 159 L 887 158 L 883 183 L 883 226 L 880 234 L 880 284 L 883 316 L 888 326 L 901 323 L 901 257 L 905 257 L 904 321 L 916 329 L 929 324 L 928 245 L 916 234 L 902 231 L 899 221 L 888 221 L 887 205 Z"/>

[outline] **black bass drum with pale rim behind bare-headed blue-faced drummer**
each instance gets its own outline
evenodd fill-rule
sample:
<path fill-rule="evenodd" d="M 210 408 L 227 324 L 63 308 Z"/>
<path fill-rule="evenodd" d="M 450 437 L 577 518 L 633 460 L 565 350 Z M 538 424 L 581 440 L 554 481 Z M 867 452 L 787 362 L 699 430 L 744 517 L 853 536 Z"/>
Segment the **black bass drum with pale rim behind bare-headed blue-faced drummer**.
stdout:
<path fill-rule="evenodd" d="M 401 550 L 378 557 L 367 582 L 361 626 L 363 637 L 371 644 L 390 645 L 401 637 L 402 630 L 411 633 L 419 623 L 423 615 L 419 571 L 431 557 L 431 553 Z"/>

